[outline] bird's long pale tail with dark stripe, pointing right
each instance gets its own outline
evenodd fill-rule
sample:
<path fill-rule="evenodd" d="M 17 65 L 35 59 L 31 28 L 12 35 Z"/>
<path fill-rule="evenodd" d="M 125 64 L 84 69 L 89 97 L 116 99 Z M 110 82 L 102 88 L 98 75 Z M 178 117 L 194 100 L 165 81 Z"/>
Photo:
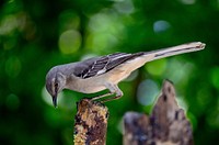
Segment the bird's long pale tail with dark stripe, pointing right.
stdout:
<path fill-rule="evenodd" d="M 204 48 L 205 48 L 204 43 L 193 42 L 193 43 L 182 44 L 182 45 L 177 45 L 177 46 L 173 46 L 169 48 L 152 51 L 152 52 L 146 53 L 146 55 L 152 55 L 153 57 L 151 57 L 151 60 L 154 60 L 154 59 L 160 59 L 160 58 L 169 57 L 173 55 L 196 52 Z M 148 62 L 151 62 L 151 60 L 148 60 Z"/>

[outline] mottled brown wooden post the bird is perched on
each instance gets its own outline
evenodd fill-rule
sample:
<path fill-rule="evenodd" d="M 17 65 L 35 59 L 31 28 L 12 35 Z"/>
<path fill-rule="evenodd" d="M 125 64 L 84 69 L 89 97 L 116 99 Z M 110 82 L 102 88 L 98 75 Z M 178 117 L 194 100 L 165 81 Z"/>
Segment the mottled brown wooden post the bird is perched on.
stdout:
<path fill-rule="evenodd" d="M 78 103 L 74 118 L 74 145 L 105 145 L 108 109 L 90 99 Z"/>

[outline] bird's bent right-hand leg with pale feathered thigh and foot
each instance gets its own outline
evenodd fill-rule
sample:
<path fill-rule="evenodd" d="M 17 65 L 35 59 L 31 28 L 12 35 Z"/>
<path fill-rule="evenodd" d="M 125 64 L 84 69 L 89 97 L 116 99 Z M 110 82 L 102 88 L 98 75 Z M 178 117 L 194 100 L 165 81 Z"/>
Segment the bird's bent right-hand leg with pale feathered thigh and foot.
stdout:
<path fill-rule="evenodd" d="M 118 88 L 117 85 L 108 85 L 107 88 L 110 89 L 111 93 L 116 93 L 116 96 L 104 99 L 101 102 L 113 101 L 113 100 L 116 100 L 116 99 L 119 99 L 120 97 L 123 97 L 123 91 Z"/>

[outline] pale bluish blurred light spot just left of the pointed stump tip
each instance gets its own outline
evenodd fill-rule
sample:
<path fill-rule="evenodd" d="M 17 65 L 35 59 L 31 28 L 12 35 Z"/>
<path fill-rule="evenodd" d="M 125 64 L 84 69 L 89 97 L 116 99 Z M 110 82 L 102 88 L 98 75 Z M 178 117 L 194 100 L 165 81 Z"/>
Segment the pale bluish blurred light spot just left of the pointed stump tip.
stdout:
<path fill-rule="evenodd" d="M 137 99 L 140 104 L 152 104 L 159 93 L 158 85 L 147 79 L 138 86 Z"/>

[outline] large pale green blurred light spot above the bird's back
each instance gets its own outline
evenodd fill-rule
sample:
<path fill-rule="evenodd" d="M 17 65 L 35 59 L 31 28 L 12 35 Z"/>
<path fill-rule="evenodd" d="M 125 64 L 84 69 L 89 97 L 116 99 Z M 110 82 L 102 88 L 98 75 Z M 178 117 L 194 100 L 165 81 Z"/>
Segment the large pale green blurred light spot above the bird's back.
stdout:
<path fill-rule="evenodd" d="M 123 40 L 124 35 L 122 19 L 112 11 L 105 10 L 90 19 L 85 45 L 99 53 L 108 53 Z"/>

